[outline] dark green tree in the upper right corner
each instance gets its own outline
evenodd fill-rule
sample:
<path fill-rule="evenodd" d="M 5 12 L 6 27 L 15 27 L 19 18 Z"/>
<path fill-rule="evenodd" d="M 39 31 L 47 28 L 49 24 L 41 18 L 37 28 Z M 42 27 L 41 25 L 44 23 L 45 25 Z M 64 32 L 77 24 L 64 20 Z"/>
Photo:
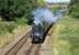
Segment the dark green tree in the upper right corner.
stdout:
<path fill-rule="evenodd" d="M 79 18 L 79 0 L 71 0 L 69 4 L 69 13 L 75 18 Z"/>

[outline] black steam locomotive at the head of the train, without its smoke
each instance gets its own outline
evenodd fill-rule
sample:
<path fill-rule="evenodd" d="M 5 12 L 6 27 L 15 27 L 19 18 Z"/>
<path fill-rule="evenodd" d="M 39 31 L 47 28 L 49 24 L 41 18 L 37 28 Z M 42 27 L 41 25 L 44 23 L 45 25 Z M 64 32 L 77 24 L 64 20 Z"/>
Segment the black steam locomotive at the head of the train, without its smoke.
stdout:
<path fill-rule="evenodd" d="M 33 23 L 32 25 L 32 43 L 40 44 L 44 43 L 48 30 L 52 28 L 53 23 L 42 22 L 40 24 Z"/>

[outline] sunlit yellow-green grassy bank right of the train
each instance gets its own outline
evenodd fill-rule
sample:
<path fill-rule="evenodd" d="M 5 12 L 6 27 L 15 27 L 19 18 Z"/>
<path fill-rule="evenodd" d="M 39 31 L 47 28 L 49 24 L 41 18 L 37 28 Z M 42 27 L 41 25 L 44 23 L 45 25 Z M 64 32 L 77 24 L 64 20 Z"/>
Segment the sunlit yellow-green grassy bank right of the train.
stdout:
<path fill-rule="evenodd" d="M 79 55 L 79 19 L 65 16 L 56 23 L 53 46 L 56 55 Z"/>

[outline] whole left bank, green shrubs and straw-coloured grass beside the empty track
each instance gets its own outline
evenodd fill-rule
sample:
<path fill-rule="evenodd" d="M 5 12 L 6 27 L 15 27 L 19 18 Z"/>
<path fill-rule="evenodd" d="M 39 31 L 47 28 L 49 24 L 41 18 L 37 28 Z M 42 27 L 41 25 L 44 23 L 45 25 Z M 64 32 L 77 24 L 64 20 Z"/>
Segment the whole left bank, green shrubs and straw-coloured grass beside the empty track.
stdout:
<path fill-rule="evenodd" d="M 29 25 L 26 24 L 25 19 L 19 18 L 21 20 L 8 22 L 0 21 L 0 48 L 3 48 L 10 42 L 14 41 L 18 35 L 26 32 Z"/>

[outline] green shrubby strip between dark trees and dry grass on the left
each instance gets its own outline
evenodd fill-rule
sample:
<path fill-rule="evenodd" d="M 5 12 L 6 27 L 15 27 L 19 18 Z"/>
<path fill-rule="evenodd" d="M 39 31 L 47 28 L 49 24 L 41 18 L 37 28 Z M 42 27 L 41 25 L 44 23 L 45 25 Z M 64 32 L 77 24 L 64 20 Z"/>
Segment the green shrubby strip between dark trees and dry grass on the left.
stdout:
<path fill-rule="evenodd" d="M 0 21 L 0 35 L 5 33 L 12 33 L 12 30 L 18 28 L 19 25 L 26 24 L 26 19 L 24 18 L 15 18 L 15 21 Z M 26 24 L 27 25 L 27 24 Z"/>

